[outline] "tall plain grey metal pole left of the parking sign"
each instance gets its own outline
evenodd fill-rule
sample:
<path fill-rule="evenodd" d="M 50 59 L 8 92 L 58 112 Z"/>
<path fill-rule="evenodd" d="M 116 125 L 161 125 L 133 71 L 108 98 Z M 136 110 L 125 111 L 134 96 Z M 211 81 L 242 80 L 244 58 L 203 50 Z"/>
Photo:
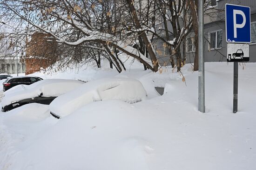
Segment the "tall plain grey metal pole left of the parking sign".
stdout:
<path fill-rule="evenodd" d="M 198 110 L 205 113 L 204 57 L 203 57 L 203 2 L 198 0 Z"/>

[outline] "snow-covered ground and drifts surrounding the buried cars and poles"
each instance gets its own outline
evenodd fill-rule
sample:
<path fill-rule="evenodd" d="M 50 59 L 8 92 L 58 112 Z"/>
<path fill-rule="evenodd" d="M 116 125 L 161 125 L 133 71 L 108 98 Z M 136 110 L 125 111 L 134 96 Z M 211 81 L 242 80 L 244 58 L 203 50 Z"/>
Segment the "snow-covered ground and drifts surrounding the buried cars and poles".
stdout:
<path fill-rule="evenodd" d="M 140 66 L 140 67 L 138 67 Z M 82 67 L 42 78 L 138 79 L 148 99 L 89 103 L 60 120 L 47 105 L 0 113 L 0 170 L 254 170 L 256 63 L 239 67 L 238 112 L 232 113 L 233 64 L 205 63 L 206 113 L 197 109 L 198 72 Z M 154 86 L 165 87 L 164 95 Z M 61 106 L 60 106 L 61 107 Z"/>

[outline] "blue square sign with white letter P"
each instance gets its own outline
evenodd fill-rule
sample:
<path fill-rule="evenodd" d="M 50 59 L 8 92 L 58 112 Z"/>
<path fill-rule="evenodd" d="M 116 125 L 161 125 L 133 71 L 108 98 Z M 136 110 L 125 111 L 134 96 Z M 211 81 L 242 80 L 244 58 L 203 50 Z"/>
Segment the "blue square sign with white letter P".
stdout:
<path fill-rule="evenodd" d="M 250 43 L 250 7 L 226 4 L 226 41 Z"/>

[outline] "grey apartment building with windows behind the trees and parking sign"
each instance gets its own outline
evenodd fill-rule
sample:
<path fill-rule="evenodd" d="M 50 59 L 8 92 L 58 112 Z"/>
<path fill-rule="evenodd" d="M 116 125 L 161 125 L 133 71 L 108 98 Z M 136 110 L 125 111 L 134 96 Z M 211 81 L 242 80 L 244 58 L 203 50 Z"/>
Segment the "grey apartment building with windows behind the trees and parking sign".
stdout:
<path fill-rule="evenodd" d="M 227 42 L 225 31 L 225 4 L 250 6 L 251 8 L 251 43 L 250 61 L 256 62 L 256 0 L 206 0 L 209 3 L 207 11 L 210 15 L 204 16 L 204 61 L 205 62 L 226 62 Z M 168 12 L 167 12 L 168 13 Z M 158 23 L 161 28 L 161 22 Z M 170 27 L 170 28 L 169 28 Z M 171 25 L 168 29 L 172 30 Z M 163 34 L 164 35 L 164 34 Z M 170 39 L 174 39 L 171 37 Z M 194 63 L 195 57 L 194 33 L 190 33 L 185 41 L 186 63 Z M 157 54 L 160 64 L 169 60 L 168 53 L 165 52 L 163 42 L 155 38 L 155 49 L 162 51 Z M 182 49 L 183 50 L 183 49 Z M 183 51 L 182 51 L 183 52 Z"/>

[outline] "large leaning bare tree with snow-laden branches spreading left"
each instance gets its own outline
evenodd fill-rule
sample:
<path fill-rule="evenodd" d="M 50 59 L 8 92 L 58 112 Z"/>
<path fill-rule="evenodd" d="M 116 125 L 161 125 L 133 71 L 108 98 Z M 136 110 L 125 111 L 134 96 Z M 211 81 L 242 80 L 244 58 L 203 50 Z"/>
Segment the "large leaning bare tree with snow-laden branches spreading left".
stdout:
<path fill-rule="evenodd" d="M 44 31 L 56 42 L 68 46 L 101 44 L 119 72 L 122 71 L 122 63 L 114 55 L 115 49 L 135 57 L 153 71 L 158 69 L 155 54 L 152 51 L 150 57 L 153 58 L 154 64 L 127 43 L 126 27 L 122 23 L 130 16 L 128 13 L 121 13 L 121 9 L 127 7 L 124 1 L 1 0 L 0 3 L 1 10 L 5 10 L 6 18 L 19 17 L 21 25 L 27 25 L 27 31 Z M 73 32 L 79 32 L 80 37 L 74 40 L 71 34 Z"/>

